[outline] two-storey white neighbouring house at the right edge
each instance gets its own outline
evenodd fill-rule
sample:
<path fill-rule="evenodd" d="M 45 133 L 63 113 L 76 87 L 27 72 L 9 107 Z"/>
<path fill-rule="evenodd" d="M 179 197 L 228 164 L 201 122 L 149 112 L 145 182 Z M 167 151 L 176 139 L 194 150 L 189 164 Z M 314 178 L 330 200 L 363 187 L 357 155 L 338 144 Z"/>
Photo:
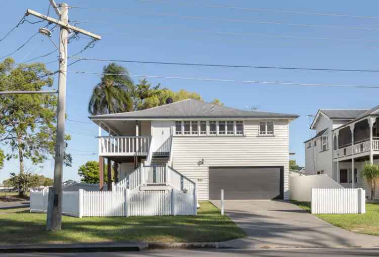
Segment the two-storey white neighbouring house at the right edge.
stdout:
<path fill-rule="evenodd" d="M 379 164 L 379 106 L 370 110 L 318 110 L 304 142 L 307 175 L 326 174 L 346 188 L 363 187 L 365 162 Z"/>

